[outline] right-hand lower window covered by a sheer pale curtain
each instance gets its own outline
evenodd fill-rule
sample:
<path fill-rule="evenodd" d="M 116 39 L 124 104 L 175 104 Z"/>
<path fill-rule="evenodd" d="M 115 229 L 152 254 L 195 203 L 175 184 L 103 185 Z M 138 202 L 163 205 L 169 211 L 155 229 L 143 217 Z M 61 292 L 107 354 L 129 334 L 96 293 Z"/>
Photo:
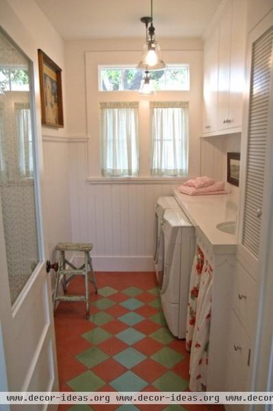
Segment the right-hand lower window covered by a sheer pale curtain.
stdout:
<path fill-rule="evenodd" d="M 151 102 L 151 175 L 187 175 L 188 105 Z"/>

